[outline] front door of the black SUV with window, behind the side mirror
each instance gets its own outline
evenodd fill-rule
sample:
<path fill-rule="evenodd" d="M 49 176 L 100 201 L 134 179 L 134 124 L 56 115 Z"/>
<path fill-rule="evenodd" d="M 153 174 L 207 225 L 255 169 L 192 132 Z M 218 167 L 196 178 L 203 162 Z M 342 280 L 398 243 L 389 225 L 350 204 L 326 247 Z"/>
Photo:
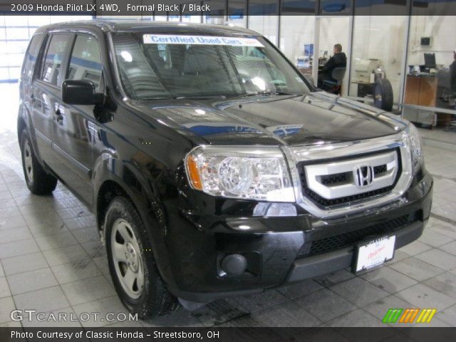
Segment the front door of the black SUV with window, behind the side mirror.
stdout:
<path fill-rule="evenodd" d="M 95 36 L 77 33 L 63 79 L 91 81 L 103 91 L 100 46 Z M 62 81 L 63 81 L 62 79 Z M 97 121 L 93 105 L 59 103 L 54 118 L 53 150 L 61 161 L 61 178 L 87 204 L 92 203 L 93 140 Z"/>

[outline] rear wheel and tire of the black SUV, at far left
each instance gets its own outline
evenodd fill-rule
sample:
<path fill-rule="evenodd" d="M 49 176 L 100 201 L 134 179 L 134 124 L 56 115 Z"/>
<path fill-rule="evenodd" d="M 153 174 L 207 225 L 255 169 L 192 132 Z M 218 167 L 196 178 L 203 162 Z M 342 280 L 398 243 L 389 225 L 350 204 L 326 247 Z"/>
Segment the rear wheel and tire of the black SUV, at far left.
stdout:
<path fill-rule="evenodd" d="M 35 195 L 49 195 L 56 190 L 57 178 L 49 175 L 36 159 L 30 137 L 24 128 L 21 133 L 22 168 L 28 190 Z"/>

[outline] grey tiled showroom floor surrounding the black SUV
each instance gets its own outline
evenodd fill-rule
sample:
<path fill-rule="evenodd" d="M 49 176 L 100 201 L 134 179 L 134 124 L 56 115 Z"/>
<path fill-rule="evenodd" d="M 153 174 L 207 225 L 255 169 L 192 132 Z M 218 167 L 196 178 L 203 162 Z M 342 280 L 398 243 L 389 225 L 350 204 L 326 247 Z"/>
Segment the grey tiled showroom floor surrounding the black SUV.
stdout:
<path fill-rule="evenodd" d="M 10 318 L 15 308 L 126 312 L 111 284 L 93 215 L 60 184 L 52 196 L 28 192 L 16 139 L 17 98 L 17 85 L 0 85 L 0 326 L 19 326 Z M 431 326 L 456 326 L 456 154 L 433 145 L 425 147 L 425 158 L 435 177 L 434 217 L 417 242 L 380 269 L 362 276 L 340 271 L 153 321 L 66 325 L 385 326 L 381 320 L 389 308 L 435 308 Z"/>

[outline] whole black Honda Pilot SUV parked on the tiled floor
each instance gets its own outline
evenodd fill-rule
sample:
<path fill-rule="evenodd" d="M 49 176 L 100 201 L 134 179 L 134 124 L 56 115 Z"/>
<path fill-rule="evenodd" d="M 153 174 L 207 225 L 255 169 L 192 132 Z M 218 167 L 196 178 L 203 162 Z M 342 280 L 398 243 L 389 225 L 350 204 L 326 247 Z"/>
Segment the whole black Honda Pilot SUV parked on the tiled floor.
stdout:
<path fill-rule="evenodd" d="M 432 178 L 413 125 L 314 88 L 244 28 L 38 28 L 20 81 L 28 188 L 96 215 L 140 317 L 370 269 L 418 239 Z"/>

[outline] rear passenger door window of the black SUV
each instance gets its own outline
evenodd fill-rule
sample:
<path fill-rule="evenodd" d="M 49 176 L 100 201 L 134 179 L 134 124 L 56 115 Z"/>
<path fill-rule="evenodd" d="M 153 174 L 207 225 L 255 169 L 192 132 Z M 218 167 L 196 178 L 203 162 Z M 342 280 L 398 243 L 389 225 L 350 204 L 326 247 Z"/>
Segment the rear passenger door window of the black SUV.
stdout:
<path fill-rule="evenodd" d="M 41 80 L 57 86 L 58 75 L 69 40 L 70 35 L 68 34 L 55 34 L 51 36 L 46 56 L 43 59 Z"/>

